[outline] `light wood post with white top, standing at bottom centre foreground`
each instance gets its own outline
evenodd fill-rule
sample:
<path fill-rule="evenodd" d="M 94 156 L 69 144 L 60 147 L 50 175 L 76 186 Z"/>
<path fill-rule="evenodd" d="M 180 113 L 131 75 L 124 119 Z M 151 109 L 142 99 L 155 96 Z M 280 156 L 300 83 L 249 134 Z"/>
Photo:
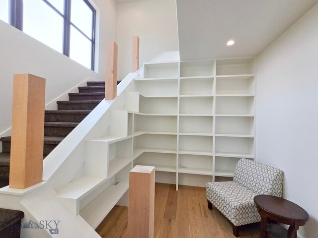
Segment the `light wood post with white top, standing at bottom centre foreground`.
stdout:
<path fill-rule="evenodd" d="M 129 173 L 129 238 L 154 238 L 154 209 L 155 167 L 137 165 Z"/>

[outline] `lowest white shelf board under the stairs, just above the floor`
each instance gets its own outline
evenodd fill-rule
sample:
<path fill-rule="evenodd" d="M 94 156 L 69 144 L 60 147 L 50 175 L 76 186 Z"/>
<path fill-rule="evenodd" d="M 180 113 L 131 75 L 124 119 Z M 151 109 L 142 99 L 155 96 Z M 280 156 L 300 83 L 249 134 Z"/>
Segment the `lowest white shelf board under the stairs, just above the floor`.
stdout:
<path fill-rule="evenodd" d="M 119 199 L 128 190 L 128 182 L 119 182 L 117 185 L 110 185 L 86 207 L 84 207 L 79 215 L 93 228 L 102 222 L 110 210 L 116 205 Z"/>

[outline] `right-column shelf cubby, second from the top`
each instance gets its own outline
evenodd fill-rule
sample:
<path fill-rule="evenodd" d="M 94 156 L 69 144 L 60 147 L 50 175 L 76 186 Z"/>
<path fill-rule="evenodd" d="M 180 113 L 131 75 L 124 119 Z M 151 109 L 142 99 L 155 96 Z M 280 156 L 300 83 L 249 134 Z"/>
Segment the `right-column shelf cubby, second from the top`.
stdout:
<path fill-rule="evenodd" d="M 216 95 L 254 94 L 254 76 L 216 78 Z"/>

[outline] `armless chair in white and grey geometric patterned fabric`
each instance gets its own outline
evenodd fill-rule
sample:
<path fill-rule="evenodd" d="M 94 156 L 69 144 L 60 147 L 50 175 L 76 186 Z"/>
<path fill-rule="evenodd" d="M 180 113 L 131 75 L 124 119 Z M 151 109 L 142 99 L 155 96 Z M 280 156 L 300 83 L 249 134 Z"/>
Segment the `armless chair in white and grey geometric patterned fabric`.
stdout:
<path fill-rule="evenodd" d="M 233 235 L 239 236 L 239 226 L 260 222 L 253 198 L 258 194 L 282 196 L 283 172 L 247 159 L 240 159 L 233 181 L 208 182 L 208 207 L 213 205 L 233 225 Z M 213 205 L 212 205 L 213 204 Z"/>

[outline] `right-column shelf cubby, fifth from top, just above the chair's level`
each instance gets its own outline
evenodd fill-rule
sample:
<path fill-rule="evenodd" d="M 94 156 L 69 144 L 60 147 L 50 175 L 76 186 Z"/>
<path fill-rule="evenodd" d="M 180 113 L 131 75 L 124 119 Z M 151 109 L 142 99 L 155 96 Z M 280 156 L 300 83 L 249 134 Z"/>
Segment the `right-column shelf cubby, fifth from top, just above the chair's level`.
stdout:
<path fill-rule="evenodd" d="M 254 156 L 254 139 L 248 137 L 215 137 L 215 155 L 223 157 Z"/>

